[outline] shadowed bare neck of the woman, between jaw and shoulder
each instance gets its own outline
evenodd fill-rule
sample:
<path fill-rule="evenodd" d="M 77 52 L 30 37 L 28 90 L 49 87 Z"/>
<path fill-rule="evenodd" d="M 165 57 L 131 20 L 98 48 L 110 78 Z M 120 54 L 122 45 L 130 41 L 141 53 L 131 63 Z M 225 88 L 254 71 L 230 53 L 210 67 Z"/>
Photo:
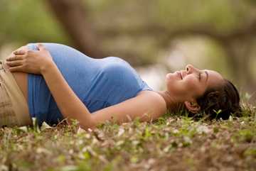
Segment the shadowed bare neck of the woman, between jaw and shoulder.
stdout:
<path fill-rule="evenodd" d="M 166 102 L 166 108 L 170 112 L 176 112 L 181 109 L 183 106 L 183 103 L 178 102 L 174 96 L 171 96 L 170 92 L 167 90 L 165 91 L 156 91 L 158 94 L 160 94 L 163 98 L 164 101 Z"/>

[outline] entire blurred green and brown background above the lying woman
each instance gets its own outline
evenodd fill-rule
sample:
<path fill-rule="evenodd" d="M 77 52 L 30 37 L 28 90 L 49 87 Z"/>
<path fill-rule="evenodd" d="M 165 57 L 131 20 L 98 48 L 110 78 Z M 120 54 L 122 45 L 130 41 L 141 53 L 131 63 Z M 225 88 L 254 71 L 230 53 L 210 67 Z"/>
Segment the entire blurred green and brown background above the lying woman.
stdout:
<path fill-rule="evenodd" d="M 255 0 L 0 0 L 0 56 L 63 43 L 122 57 L 154 89 L 191 63 L 216 70 L 255 101 Z"/>

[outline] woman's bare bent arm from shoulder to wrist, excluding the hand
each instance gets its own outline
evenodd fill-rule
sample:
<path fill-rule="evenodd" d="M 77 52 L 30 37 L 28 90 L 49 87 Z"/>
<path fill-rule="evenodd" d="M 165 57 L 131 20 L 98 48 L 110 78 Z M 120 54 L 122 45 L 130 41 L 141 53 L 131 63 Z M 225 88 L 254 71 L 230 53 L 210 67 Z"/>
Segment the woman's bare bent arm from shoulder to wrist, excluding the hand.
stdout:
<path fill-rule="evenodd" d="M 161 102 L 164 100 L 161 101 L 159 94 L 151 92 L 90 114 L 85 104 L 80 101 L 65 81 L 54 62 L 47 70 L 42 71 L 42 75 L 63 116 L 77 119 L 82 128 L 94 128 L 97 124 L 105 121 L 124 123 L 137 117 L 141 121 L 151 121 L 164 114 L 165 111 L 164 106 L 161 106 Z"/>

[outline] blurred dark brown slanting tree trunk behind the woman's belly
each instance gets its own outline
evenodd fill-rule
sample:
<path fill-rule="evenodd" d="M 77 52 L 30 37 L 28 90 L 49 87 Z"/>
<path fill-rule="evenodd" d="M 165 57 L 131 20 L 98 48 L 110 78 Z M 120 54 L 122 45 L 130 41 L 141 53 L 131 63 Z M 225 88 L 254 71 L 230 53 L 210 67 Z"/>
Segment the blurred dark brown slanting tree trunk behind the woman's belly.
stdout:
<path fill-rule="evenodd" d="M 99 41 L 86 21 L 86 10 L 81 0 L 46 0 L 50 9 L 60 21 L 65 31 L 82 53 L 90 57 L 102 58 Z"/>

